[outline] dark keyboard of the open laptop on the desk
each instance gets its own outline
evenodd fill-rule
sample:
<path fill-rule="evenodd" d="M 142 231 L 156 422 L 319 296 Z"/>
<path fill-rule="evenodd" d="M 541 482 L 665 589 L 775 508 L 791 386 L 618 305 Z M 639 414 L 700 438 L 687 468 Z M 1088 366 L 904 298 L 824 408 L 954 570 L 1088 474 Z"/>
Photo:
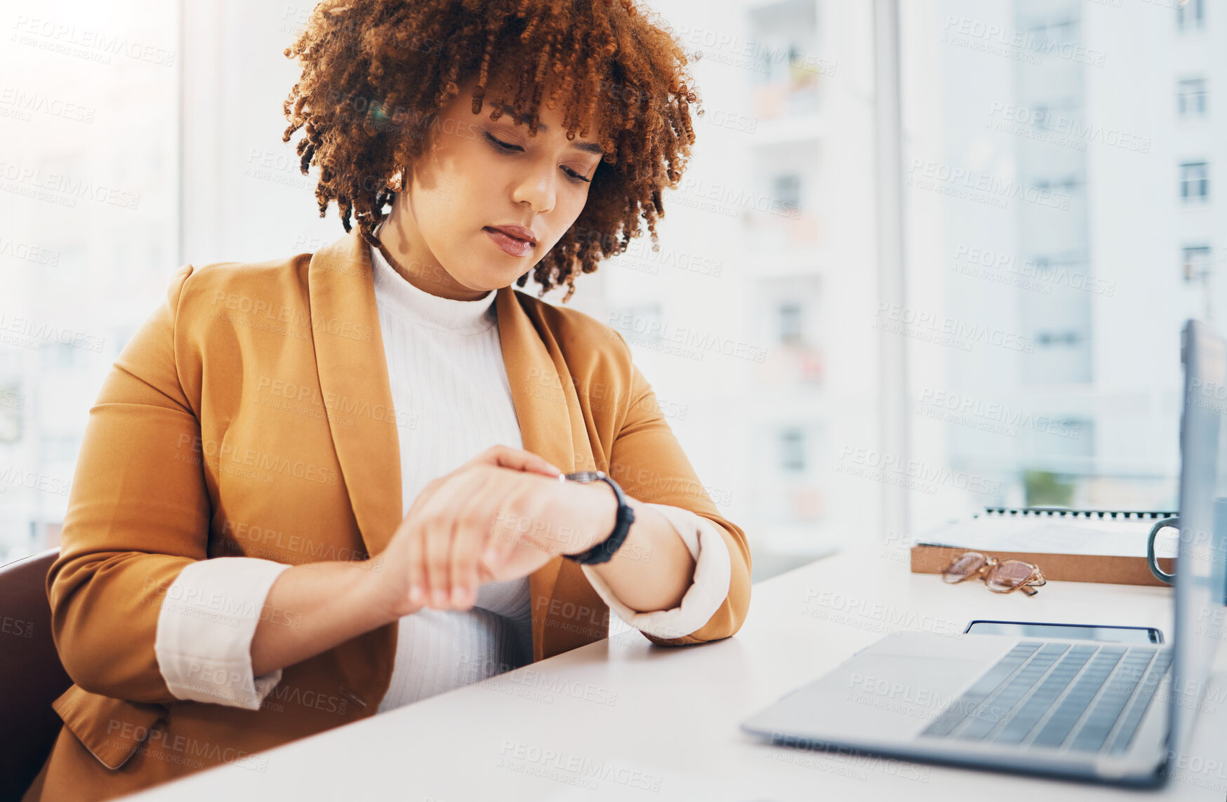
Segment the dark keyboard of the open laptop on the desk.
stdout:
<path fill-rule="evenodd" d="M 1119 754 L 1171 662 L 1155 646 L 1020 643 L 920 735 Z"/>

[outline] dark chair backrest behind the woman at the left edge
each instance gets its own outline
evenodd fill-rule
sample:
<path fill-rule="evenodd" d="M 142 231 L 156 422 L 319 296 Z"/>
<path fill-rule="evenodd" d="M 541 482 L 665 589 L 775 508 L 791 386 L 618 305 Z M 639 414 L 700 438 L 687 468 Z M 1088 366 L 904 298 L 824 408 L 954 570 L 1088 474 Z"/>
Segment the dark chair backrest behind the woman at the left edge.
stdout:
<path fill-rule="evenodd" d="M 53 548 L 0 565 L 0 800 L 18 800 L 60 731 L 52 710 L 72 681 L 52 640 L 47 571 Z"/>

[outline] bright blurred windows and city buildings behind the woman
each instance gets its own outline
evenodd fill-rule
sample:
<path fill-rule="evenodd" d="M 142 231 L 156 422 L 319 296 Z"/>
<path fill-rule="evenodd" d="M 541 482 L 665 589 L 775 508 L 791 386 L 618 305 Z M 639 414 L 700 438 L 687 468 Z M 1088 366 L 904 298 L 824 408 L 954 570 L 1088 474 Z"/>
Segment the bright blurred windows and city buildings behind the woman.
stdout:
<path fill-rule="evenodd" d="M 313 5 L 0 11 L 0 562 L 59 543 L 177 267 L 344 234 L 281 141 Z M 756 581 L 984 506 L 1175 509 L 1180 326 L 1227 315 L 1223 4 L 642 5 L 706 113 L 660 249 L 569 305 L 631 343 Z"/>

